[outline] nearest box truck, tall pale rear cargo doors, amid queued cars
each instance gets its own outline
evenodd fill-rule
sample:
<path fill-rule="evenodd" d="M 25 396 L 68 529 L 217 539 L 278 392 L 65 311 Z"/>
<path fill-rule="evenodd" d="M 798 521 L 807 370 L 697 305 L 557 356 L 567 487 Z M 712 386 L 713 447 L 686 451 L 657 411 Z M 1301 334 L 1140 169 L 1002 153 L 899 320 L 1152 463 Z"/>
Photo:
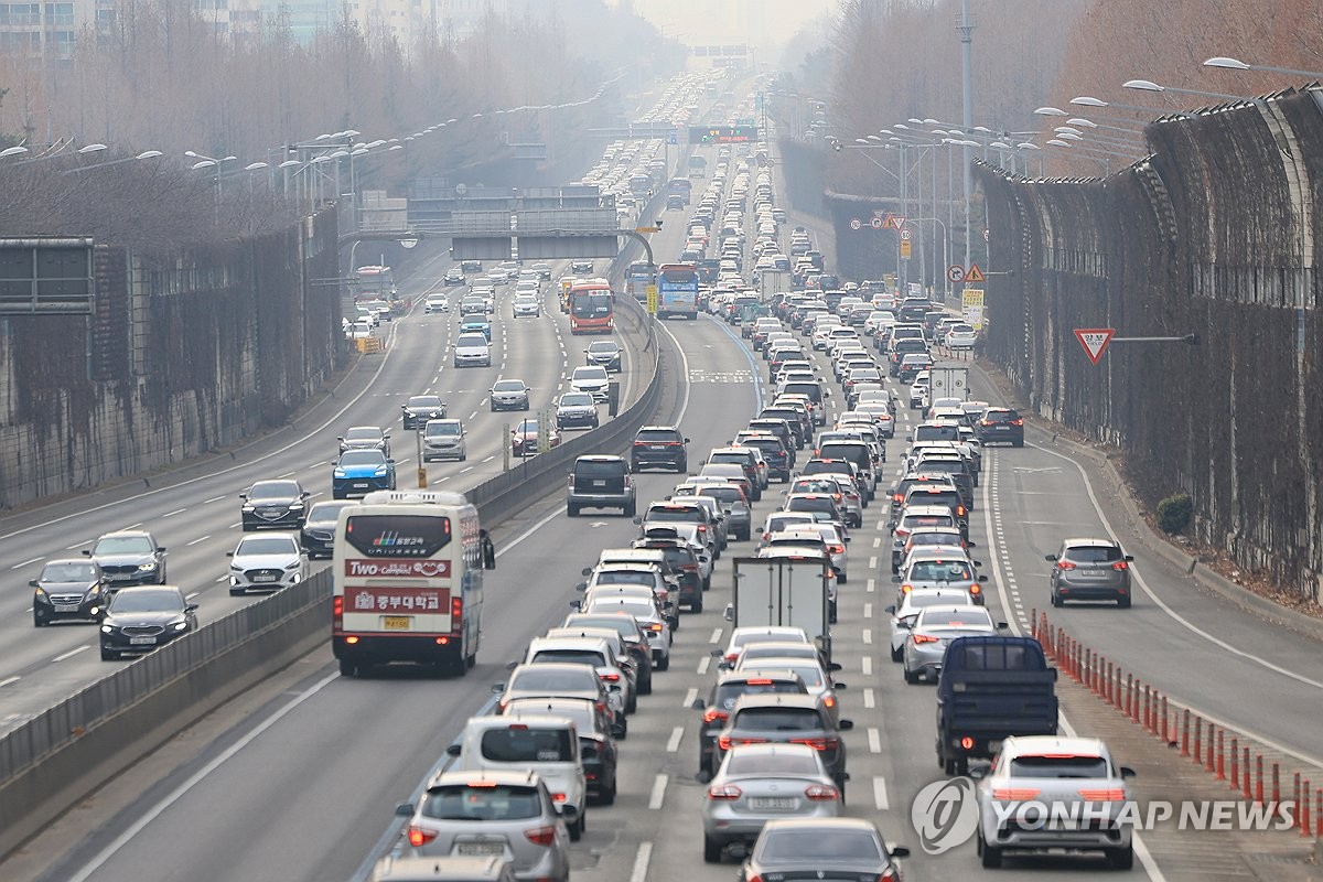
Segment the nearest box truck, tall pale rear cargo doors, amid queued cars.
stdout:
<path fill-rule="evenodd" d="M 726 607 L 725 618 L 736 628 L 803 628 L 830 662 L 831 582 L 831 563 L 823 558 L 795 553 L 736 558 L 734 600 Z"/>

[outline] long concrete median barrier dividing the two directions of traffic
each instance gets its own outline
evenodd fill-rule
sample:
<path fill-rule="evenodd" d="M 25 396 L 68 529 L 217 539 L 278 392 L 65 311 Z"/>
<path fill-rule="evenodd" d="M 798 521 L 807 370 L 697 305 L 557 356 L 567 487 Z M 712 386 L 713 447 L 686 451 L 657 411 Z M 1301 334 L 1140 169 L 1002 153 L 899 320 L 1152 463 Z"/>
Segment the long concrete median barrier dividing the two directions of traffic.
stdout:
<path fill-rule="evenodd" d="M 628 298 L 622 331 L 646 337 L 648 316 Z M 624 327 L 628 325 L 628 327 Z M 487 524 L 527 508 L 565 480 L 582 454 L 617 450 L 662 398 L 662 353 L 648 385 L 615 419 L 468 491 Z M 0 857 L 134 762 L 328 637 L 331 571 L 235 610 L 98 680 L 0 737 Z"/>

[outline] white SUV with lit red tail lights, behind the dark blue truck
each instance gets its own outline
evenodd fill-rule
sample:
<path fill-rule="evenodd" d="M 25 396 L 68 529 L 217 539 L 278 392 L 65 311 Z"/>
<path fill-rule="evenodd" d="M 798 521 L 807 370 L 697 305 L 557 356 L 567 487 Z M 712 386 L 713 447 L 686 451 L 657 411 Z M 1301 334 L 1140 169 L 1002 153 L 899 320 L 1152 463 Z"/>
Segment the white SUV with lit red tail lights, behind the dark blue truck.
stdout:
<path fill-rule="evenodd" d="M 978 780 L 983 866 L 1002 866 L 1007 849 L 1066 849 L 1099 850 L 1113 869 L 1129 870 L 1134 865 L 1131 825 L 1115 820 L 1130 805 L 1126 779 L 1134 774 L 1118 766 L 1097 738 L 1007 738 L 996 766 L 971 770 Z M 1043 822 L 1044 807 L 1050 824 Z M 1037 820 L 1031 821 L 1031 813 Z M 1057 817 L 1068 820 L 1057 822 Z M 1072 817 L 1080 822 L 1070 822 Z"/>

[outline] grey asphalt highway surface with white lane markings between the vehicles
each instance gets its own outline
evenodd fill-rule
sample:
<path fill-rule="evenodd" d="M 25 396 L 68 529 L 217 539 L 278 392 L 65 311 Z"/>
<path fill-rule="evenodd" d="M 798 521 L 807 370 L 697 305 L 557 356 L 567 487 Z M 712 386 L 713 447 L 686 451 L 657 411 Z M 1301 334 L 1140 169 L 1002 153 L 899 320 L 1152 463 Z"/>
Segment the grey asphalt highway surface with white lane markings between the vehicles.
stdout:
<path fill-rule="evenodd" d="M 659 262 L 677 253 L 679 226 L 667 225 L 654 237 Z M 443 263 L 429 267 L 418 290 L 439 279 L 443 268 Z M 472 421 L 472 448 L 468 463 L 433 465 L 431 484 L 471 485 L 499 469 L 500 423 L 508 417 L 486 413 L 491 381 L 525 378 L 534 385 L 536 409 L 554 398 L 556 385 L 534 378 L 564 377 L 577 364 L 564 317 L 553 300 L 548 304 L 541 319 L 519 321 L 508 317 L 508 303 L 503 304 L 504 317 L 495 323 L 500 357 L 491 370 L 451 373 L 446 342 L 458 320 L 454 313 L 397 321 L 380 368 L 370 376 L 361 369 L 351 376 L 333 401 L 303 421 L 307 428 L 245 448 L 229 471 L 198 469 L 204 473 L 181 473 L 183 480 L 172 487 L 120 489 L 82 506 L 62 504 L 60 517 L 66 520 L 49 514 L 42 520 L 40 513 L 11 518 L 0 536 L 0 561 L 13 561 L 15 577 L 28 578 L 37 567 L 28 558 L 38 553 L 77 553 L 102 532 L 140 522 L 156 529 L 171 547 L 172 581 L 198 592 L 202 615 L 222 615 L 245 602 L 232 600 L 218 581 L 225 571 L 224 551 L 238 537 L 235 495 L 251 480 L 282 475 L 298 476 L 314 492 L 327 495 L 340 428 L 397 427 L 393 440 L 401 485 L 409 485 L 415 463 L 398 431 L 398 405 L 407 394 L 447 390 L 451 415 Z M 668 413 L 656 422 L 681 426 L 691 438 L 691 463 L 697 463 L 757 414 L 766 395 L 763 362 L 737 332 L 706 316 L 697 323 L 664 323 L 663 333 L 683 353 L 685 382 L 673 390 Z M 830 378 L 830 370 L 824 372 Z M 835 391 L 830 401 L 839 405 L 839 387 Z M 995 401 L 986 385 L 976 386 L 975 394 Z M 897 440 L 889 444 L 888 476 L 914 422 L 916 415 L 902 409 Z M 1031 610 L 1048 611 L 1054 623 L 1170 694 L 1302 762 L 1323 764 L 1315 746 L 1323 689 L 1315 641 L 1211 602 L 1166 561 L 1138 547 L 1129 549 L 1136 554 L 1140 590 L 1131 610 L 1050 608 L 1043 555 L 1054 551 L 1064 536 L 1117 533 L 1114 501 L 1099 496 L 1086 473 L 1068 448 L 1037 432 L 1029 434 L 1023 450 L 986 454 L 971 534 L 978 543 L 975 557 L 990 575 L 994 618 L 1025 631 Z M 677 479 L 654 472 L 638 476 L 640 502 L 660 499 Z M 880 500 L 885 487 L 886 481 Z M 755 505 L 754 522 L 761 524 L 778 500 L 774 484 Z M 843 664 L 837 677 L 848 685 L 843 715 L 855 721 L 845 735 L 851 756 L 847 808 L 876 820 L 892 842 L 914 848 L 914 857 L 905 862 L 908 879 L 996 878 L 979 869 L 972 842 L 939 857 L 916 848 L 909 804 L 938 778 L 933 686 L 905 685 L 888 659 L 884 610 L 893 602 L 893 586 L 885 510 L 884 501 L 875 502 L 865 510 L 864 528 L 852 532 L 851 579 L 841 587 L 835 629 Z M 467 715 L 487 701 L 491 684 L 503 680 L 505 664 L 569 611 L 579 570 L 595 559 L 598 549 L 626 545 L 635 534 L 636 528 L 614 513 L 566 518 L 558 495 L 531 500 L 521 516 L 493 529 L 499 563 L 488 577 L 484 640 L 478 668 L 468 677 L 434 680 L 401 668 L 366 680 L 341 678 L 329 648 L 321 648 L 69 812 L 49 834 L 0 865 L 0 875 L 50 882 L 356 878 L 364 862 L 389 845 L 384 837 L 396 804 L 417 791 Z M 705 611 L 683 616 L 672 668 L 659 673 L 654 694 L 640 700 L 631 735 L 620 744 L 619 799 L 611 808 L 589 809 L 587 833 L 572 849 L 576 879 L 705 882 L 734 874 L 733 862 L 703 861 L 697 809 L 704 788 L 695 778 L 699 714 L 689 705 L 706 694 L 713 674 L 708 653 L 729 633 L 722 620 L 729 557 L 751 549 L 751 543 L 732 543 L 718 563 Z M 8 629 L 4 633 L 15 649 L 0 665 L 5 713 L 17 719 L 40 710 L 42 702 L 106 669 L 87 651 L 94 637 L 90 628 L 33 633 L 30 614 L 24 612 L 26 594 L 11 592 L 7 604 L 9 615 L 0 627 Z M 1125 762 L 1123 746 L 1114 748 Z M 1136 787 L 1144 797 L 1163 792 L 1163 782 L 1140 780 Z M 58 853 L 52 842 L 61 844 Z M 1154 882 L 1213 878 L 1192 875 L 1184 852 L 1143 844 L 1136 850 L 1134 870 L 1119 875 Z M 1011 866 L 1009 873 L 1019 869 L 1054 882 L 1093 878 L 1102 865 L 1095 858 L 1035 857 L 1012 858 Z"/>

